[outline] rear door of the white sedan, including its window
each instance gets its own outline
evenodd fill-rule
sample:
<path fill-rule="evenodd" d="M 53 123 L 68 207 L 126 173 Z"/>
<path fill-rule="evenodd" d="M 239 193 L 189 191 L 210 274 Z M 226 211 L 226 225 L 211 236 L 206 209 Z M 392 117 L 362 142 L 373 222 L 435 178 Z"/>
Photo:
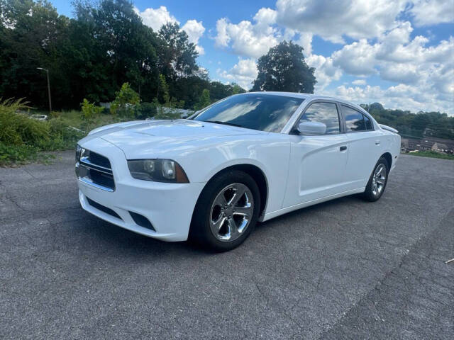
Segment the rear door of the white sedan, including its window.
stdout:
<path fill-rule="evenodd" d="M 341 104 L 348 138 L 348 162 L 345 171 L 350 190 L 367 185 L 370 174 L 381 155 L 382 132 L 375 131 L 367 115 L 352 106 Z"/>

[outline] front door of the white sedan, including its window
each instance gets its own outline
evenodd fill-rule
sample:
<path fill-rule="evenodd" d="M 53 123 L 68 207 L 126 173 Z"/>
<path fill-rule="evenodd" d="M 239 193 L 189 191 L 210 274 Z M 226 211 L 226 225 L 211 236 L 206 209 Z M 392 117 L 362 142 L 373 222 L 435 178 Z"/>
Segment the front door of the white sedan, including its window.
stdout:
<path fill-rule="evenodd" d="M 333 101 L 315 101 L 297 120 L 326 124 L 325 135 L 290 135 L 290 160 L 283 207 L 306 203 L 344 191 L 347 137 Z"/>

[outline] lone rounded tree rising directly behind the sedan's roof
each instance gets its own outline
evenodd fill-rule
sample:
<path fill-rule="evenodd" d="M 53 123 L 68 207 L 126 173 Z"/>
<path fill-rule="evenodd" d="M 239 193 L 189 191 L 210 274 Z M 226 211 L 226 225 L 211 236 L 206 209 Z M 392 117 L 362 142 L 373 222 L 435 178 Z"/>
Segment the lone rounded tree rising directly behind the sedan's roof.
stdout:
<path fill-rule="evenodd" d="M 258 60 L 258 76 L 253 91 L 314 93 L 314 67 L 304 61 L 303 47 L 283 41 Z"/>

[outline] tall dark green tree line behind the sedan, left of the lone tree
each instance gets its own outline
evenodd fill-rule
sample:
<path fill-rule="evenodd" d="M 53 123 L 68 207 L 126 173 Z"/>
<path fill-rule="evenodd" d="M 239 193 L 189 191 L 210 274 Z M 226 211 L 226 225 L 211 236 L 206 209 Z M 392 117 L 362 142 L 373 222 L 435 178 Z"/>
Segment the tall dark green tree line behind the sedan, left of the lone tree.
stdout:
<path fill-rule="evenodd" d="M 145 26 L 128 0 L 72 2 L 74 18 L 46 0 L 0 0 L 0 97 L 48 107 L 48 69 L 55 109 L 110 102 L 128 83 L 140 101 L 194 108 L 244 92 L 210 81 L 196 63 L 195 45 L 177 23 Z"/>

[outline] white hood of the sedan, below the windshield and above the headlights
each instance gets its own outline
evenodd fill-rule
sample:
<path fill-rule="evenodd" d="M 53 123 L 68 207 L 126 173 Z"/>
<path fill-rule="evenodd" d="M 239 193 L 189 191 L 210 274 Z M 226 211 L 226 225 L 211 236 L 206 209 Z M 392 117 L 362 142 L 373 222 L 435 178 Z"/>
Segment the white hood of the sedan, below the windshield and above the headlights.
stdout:
<path fill-rule="evenodd" d="M 145 120 L 95 130 L 88 137 L 100 137 L 119 147 L 128 159 L 165 157 L 170 151 L 201 147 L 226 136 L 259 135 L 267 132 L 196 120 Z"/>

